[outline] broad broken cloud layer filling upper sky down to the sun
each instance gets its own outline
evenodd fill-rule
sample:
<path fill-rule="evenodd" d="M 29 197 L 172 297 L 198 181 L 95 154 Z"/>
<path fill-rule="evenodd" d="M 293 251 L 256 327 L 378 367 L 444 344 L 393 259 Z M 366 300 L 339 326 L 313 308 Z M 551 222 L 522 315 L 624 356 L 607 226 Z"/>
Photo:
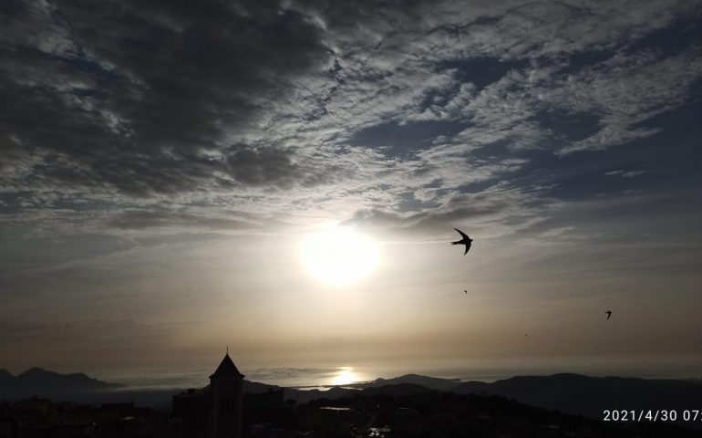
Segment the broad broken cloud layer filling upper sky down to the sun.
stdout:
<path fill-rule="evenodd" d="M 469 219 L 509 235 L 585 173 L 639 183 L 639 164 L 607 162 L 614 146 L 669 132 L 657 118 L 687 110 L 702 71 L 689 2 L 4 12 L 3 236 L 331 220 L 423 239 Z"/>

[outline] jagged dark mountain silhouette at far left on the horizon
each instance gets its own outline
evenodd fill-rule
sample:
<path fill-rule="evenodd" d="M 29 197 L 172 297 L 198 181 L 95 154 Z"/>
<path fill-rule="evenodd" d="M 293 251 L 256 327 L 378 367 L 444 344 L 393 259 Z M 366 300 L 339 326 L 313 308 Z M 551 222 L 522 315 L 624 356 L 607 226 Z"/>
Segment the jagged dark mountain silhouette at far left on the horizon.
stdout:
<path fill-rule="evenodd" d="M 5 370 L 3 370 L 5 371 Z M 0 400 L 10 400 L 37 395 L 56 397 L 59 395 L 109 391 L 122 385 L 92 379 L 80 373 L 59 374 L 54 371 L 33 368 L 13 377 L 0 371 Z"/>

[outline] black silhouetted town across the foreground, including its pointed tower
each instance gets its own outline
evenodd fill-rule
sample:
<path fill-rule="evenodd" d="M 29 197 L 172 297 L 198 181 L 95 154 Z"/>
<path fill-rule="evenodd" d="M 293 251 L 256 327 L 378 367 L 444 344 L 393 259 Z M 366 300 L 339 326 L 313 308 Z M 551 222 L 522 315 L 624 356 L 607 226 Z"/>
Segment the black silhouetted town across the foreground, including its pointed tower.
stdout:
<path fill-rule="evenodd" d="M 172 396 L 170 409 L 133 401 L 99 405 L 30 397 L 0 402 L 0 438 L 163 437 L 656 437 L 696 436 L 665 423 L 612 423 L 505 397 L 432 391 L 411 383 L 297 403 L 286 389 L 243 391 L 229 354 L 211 384 Z"/>

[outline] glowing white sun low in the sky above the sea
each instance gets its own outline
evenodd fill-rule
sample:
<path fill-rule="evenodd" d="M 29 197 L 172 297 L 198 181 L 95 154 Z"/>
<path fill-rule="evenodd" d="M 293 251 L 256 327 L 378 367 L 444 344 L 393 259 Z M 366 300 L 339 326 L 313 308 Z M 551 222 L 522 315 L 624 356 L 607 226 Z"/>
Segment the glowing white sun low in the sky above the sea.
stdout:
<path fill-rule="evenodd" d="M 336 227 L 307 235 L 302 244 L 307 272 L 330 286 L 348 286 L 373 272 L 380 261 L 377 244 L 352 229 Z"/>

